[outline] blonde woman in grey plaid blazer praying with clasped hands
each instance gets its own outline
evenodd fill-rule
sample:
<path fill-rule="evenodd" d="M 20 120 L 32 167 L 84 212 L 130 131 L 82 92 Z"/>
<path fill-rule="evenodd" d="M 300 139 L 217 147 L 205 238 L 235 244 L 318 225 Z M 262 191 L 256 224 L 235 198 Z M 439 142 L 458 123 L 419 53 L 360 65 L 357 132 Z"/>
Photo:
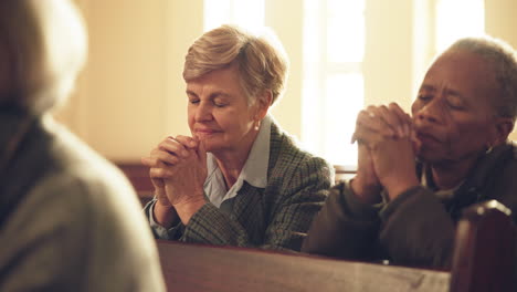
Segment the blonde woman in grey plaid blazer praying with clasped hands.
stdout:
<path fill-rule="evenodd" d="M 334 169 L 268 114 L 287 74 L 271 36 L 223 25 L 190 46 L 183 79 L 192 136 L 167 137 L 143 158 L 156 189 L 146 207 L 156 237 L 299 250 Z"/>

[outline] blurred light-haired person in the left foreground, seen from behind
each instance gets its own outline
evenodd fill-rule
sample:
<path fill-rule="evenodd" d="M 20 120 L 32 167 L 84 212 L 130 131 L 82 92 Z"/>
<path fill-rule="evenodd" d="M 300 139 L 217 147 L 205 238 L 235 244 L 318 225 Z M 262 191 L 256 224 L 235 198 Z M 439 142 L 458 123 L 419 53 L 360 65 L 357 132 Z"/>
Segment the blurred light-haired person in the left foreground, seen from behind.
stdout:
<path fill-rule="evenodd" d="M 130 185 L 50 115 L 85 56 L 71 1 L 0 1 L 0 291 L 165 290 Z"/>

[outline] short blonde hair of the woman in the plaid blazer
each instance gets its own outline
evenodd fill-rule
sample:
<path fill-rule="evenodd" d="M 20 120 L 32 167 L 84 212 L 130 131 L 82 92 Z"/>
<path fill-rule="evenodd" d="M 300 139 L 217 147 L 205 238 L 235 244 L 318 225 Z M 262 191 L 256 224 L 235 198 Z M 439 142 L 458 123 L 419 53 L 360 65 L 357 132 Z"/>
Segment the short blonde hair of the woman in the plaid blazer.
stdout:
<path fill-rule="evenodd" d="M 272 104 L 279 100 L 287 79 L 288 61 L 271 31 L 254 35 L 234 25 L 222 25 L 204 33 L 189 48 L 183 79 L 189 82 L 233 64 L 238 66 L 249 104 L 253 104 L 264 91 L 271 91 Z"/>

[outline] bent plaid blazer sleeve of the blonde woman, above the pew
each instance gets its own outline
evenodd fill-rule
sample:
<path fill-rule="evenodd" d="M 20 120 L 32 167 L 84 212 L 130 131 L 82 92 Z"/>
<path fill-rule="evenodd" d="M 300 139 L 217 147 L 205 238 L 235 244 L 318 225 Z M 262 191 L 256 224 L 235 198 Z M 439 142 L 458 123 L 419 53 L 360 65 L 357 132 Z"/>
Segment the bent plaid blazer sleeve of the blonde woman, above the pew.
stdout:
<path fill-rule="evenodd" d="M 323 159 L 299 165 L 289 189 L 277 194 L 262 244 L 253 244 L 241 223 L 212 204 L 205 204 L 186 226 L 181 240 L 210 244 L 298 251 L 313 217 L 330 188 L 333 173 Z"/>

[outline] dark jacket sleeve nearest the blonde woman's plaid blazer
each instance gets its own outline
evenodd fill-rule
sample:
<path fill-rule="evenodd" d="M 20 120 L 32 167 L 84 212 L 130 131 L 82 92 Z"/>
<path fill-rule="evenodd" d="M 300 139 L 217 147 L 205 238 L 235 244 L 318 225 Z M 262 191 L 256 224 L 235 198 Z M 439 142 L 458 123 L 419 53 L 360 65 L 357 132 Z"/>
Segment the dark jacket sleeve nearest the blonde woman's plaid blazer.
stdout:
<path fill-rule="evenodd" d="M 379 210 L 380 205 L 357 200 L 348 182 L 335 186 L 313 221 L 302 251 L 346 259 L 374 258 Z"/>

